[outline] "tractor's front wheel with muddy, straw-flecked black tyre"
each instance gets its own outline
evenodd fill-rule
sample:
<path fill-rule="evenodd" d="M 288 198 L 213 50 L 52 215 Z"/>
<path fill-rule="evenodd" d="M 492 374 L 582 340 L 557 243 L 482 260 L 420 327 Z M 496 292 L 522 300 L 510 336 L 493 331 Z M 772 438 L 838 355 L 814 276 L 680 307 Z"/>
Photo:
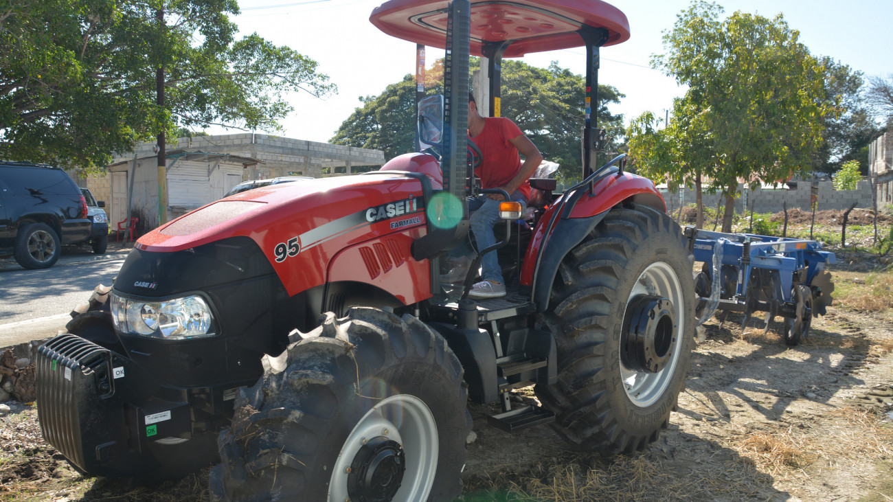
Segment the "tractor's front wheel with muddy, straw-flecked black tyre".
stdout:
<path fill-rule="evenodd" d="M 463 370 L 410 315 L 352 308 L 268 360 L 218 439 L 224 500 L 452 500 L 471 431 Z M 281 364 L 277 369 L 277 364 Z"/>

